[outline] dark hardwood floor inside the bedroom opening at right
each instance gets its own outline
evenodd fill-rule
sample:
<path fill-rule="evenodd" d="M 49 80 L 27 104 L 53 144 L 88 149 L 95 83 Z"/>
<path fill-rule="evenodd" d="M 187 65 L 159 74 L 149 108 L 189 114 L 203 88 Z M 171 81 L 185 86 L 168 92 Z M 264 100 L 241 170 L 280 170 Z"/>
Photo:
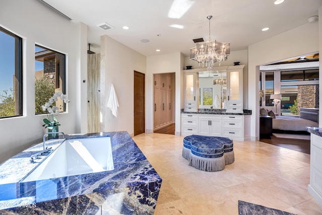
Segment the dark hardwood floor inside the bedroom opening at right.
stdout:
<path fill-rule="evenodd" d="M 272 144 L 278 147 L 283 147 L 297 152 L 310 154 L 310 140 L 308 139 L 291 139 L 291 138 L 280 138 L 271 136 L 270 139 L 261 138 L 260 141 Z"/>

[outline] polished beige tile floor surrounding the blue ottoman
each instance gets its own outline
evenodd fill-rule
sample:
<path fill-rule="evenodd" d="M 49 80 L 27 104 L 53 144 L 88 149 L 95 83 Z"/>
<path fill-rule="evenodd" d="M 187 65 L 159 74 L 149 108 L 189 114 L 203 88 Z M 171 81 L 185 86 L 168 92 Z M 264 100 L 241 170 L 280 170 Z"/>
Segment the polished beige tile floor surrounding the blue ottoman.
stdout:
<path fill-rule="evenodd" d="M 235 162 L 204 172 L 182 157 L 183 136 L 143 133 L 134 141 L 163 182 L 154 214 L 238 214 L 238 200 L 298 215 L 322 214 L 307 191 L 310 155 L 234 141 Z"/>

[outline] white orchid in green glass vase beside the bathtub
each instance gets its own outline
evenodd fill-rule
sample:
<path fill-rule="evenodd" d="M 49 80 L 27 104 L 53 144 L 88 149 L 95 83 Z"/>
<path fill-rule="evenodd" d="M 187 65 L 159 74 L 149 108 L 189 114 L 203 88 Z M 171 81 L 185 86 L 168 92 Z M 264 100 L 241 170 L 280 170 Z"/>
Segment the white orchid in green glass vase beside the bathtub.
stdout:
<path fill-rule="evenodd" d="M 48 132 L 58 132 L 58 126 L 60 125 L 60 123 L 57 121 L 56 117 L 54 117 L 55 115 L 59 114 L 59 109 L 60 107 L 56 106 L 56 102 L 58 101 L 58 98 L 60 98 L 64 103 L 68 103 L 68 97 L 66 95 L 64 95 L 62 92 L 56 92 L 54 93 L 54 95 L 49 99 L 48 102 L 45 103 L 45 105 L 42 105 L 42 110 L 43 111 L 48 111 L 47 113 L 47 118 L 44 118 L 43 121 L 45 124 L 43 124 L 42 126 L 44 126 L 45 128 L 48 129 Z M 48 135 L 48 139 L 54 139 L 57 138 L 58 134 L 49 134 Z"/>

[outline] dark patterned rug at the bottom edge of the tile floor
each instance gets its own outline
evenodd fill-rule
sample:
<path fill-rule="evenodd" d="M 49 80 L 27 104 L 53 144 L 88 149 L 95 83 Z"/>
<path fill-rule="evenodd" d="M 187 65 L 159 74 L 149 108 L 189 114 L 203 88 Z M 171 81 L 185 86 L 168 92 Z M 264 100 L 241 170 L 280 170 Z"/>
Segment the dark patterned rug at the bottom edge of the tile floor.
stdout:
<path fill-rule="evenodd" d="M 239 215 L 295 215 L 294 213 L 238 200 Z"/>

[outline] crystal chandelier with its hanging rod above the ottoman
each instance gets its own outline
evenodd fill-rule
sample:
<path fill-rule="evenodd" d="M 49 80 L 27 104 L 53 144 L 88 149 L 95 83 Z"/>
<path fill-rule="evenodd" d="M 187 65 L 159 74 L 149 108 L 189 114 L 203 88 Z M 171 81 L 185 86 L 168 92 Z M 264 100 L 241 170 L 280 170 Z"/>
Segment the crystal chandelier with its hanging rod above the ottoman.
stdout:
<path fill-rule="evenodd" d="M 190 49 L 190 59 L 197 60 L 202 67 L 206 64 L 207 69 L 211 70 L 215 62 L 227 60 L 230 54 L 230 43 L 221 43 L 216 40 L 211 40 L 210 37 L 210 19 L 212 16 L 207 16 L 209 20 L 209 39 L 207 42 L 196 43 L 196 46 Z"/>

